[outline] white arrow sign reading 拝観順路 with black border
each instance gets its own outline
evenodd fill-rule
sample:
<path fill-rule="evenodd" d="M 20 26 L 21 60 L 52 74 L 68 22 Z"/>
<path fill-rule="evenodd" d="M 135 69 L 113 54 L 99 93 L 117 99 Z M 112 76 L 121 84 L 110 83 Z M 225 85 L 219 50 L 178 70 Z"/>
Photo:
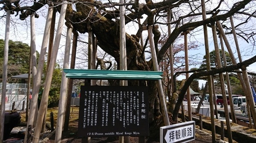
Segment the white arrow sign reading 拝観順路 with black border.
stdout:
<path fill-rule="evenodd" d="M 195 121 L 160 127 L 160 143 L 186 143 L 195 140 Z"/>

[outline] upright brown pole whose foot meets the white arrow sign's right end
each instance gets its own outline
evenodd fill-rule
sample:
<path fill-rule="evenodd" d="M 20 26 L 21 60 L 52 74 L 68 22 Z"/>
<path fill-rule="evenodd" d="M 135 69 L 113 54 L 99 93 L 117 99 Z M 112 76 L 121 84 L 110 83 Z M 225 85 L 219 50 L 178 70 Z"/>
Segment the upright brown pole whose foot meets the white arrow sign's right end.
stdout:
<path fill-rule="evenodd" d="M 189 34 L 190 31 L 184 31 L 181 33 L 181 35 L 184 35 L 184 46 L 185 46 L 185 70 L 189 71 L 189 53 L 188 53 L 188 37 L 187 34 Z M 186 73 L 186 80 L 189 79 L 189 73 Z M 189 121 L 192 121 L 192 109 L 191 109 L 191 96 L 190 96 L 190 87 L 188 87 L 186 96 L 188 101 L 188 116 Z"/>

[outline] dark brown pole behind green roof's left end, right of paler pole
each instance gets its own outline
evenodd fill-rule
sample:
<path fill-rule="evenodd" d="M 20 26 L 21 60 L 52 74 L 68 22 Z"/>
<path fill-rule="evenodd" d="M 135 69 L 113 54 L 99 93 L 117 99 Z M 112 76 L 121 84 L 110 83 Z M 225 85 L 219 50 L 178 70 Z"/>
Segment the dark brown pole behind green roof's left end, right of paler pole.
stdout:
<path fill-rule="evenodd" d="M 77 47 L 77 39 L 78 39 L 78 32 L 73 31 L 73 43 L 72 43 L 72 53 L 71 53 L 71 62 L 70 62 L 70 69 L 75 68 L 76 64 L 76 47 Z M 66 112 L 65 112 L 65 121 L 64 121 L 64 131 L 68 130 L 68 123 L 70 118 L 70 105 L 71 105 L 71 95 L 72 95 L 72 88 L 73 88 L 73 79 L 68 79 L 67 84 L 67 102 L 66 102 Z"/>

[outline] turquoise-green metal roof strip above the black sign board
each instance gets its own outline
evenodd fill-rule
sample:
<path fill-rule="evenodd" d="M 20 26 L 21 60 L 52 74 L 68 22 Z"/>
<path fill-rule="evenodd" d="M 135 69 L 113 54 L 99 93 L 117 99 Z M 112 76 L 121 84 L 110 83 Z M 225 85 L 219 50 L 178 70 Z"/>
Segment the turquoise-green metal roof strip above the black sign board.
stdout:
<path fill-rule="evenodd" d="M 157 80 L 162 79 L 161 71 L 139 70 L 80 70 L 63 69 L 70 79 L 119 79 L 119 80 Z"/>

